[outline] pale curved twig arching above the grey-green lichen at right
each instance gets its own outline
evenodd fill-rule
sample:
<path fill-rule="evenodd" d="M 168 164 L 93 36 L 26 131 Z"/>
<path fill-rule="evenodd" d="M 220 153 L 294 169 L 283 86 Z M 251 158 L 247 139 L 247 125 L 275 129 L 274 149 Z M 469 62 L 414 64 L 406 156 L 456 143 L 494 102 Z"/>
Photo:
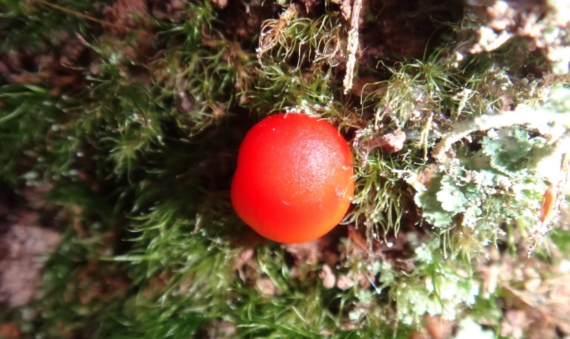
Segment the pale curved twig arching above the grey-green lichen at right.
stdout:
<path fill-rule="evenodd" d="M 570 128 L 570 113 L 553 113 L 551 111 L 525 107 L 516 111 L 504 111 L 492 116 L 478 116 L 471 120 L 456 123 L 452 131 L 441 138 L 432 155 L 436 161 L 443 162 L 447 157 L 445 153 L 455 142 L 475 131 L 486 131 L 487 129 L 518 124 L 542 125 L 548 122 L 557 122 Z"/>

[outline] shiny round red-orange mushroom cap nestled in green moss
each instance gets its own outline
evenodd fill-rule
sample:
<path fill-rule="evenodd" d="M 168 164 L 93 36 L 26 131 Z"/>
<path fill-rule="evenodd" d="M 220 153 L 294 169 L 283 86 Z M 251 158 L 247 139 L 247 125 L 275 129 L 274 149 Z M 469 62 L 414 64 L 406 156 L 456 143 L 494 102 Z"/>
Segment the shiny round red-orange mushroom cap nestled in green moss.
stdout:
<path fill-rule="evenodd" d="M 255 232 L 303 243 L 334 228 L 355 189 L 352 153 L 335 127 L 297 113 L 269 116 L 246 135 L 231 203 Z"/>

